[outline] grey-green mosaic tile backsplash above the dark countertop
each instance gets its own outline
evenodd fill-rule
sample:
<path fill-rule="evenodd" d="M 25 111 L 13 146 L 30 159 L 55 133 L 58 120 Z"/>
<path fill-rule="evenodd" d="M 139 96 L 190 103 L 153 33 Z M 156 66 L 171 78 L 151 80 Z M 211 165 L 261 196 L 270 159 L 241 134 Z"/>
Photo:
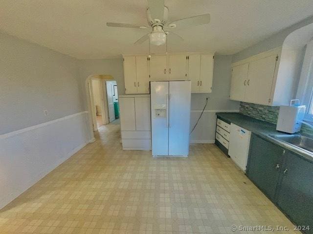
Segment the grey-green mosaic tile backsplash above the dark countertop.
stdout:
<path fill-rule="evenodd" d="M 240 102 L 239 113 L 276 124 L 278 119 L 279 106 L 264 106 L 253 103 Z M 313 135 L 313 129 L 304 124 L 302 124 L 300 132 Z"/>

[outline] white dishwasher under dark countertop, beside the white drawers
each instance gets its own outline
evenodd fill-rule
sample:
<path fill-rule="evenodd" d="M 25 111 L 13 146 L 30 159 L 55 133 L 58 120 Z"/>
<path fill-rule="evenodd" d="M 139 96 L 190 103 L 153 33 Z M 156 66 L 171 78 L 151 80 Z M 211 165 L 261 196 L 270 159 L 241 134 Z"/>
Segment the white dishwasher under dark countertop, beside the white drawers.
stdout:
<path fill-rule="evenodd" d="M 244 172 L 246 172 L 250 137 L 250 131 L 239 127 L 236 124 L 230 124 L 228 155 Z"/>

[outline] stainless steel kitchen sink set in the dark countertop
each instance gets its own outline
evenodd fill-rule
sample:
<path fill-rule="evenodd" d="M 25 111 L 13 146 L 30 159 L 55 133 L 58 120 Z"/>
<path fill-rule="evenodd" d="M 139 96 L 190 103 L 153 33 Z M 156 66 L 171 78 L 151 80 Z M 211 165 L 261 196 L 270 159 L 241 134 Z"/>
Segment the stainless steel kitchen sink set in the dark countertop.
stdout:
<path fill-rule="evenodd" d="M 283 141 L 287 144 L 308 151 L 313 154 L 313 138 L 306 137 L 300 134 L 297 135 L 270 135 L 277 140 Z"/>

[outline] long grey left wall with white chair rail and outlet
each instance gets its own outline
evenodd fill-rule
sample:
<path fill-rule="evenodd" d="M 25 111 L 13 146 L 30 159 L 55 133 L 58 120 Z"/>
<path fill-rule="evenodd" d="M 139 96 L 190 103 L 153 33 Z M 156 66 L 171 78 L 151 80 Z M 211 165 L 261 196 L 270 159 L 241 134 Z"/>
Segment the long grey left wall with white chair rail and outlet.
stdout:
<path fill-rule="evenodd" d="M 86 126 L 78 60 L 0 33 L 0 208 L 86 145 Z"/>

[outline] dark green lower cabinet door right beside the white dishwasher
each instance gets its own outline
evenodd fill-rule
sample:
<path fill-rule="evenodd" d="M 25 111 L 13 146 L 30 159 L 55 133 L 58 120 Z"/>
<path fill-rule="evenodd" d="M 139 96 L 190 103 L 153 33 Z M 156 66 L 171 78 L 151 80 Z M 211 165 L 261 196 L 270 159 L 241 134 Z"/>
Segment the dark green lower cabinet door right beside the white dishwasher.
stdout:
<path fill-rule="evenodd" d="M 246 175 L 259 189 L 274 200 L 283 149 L 252 134 Z"/>

